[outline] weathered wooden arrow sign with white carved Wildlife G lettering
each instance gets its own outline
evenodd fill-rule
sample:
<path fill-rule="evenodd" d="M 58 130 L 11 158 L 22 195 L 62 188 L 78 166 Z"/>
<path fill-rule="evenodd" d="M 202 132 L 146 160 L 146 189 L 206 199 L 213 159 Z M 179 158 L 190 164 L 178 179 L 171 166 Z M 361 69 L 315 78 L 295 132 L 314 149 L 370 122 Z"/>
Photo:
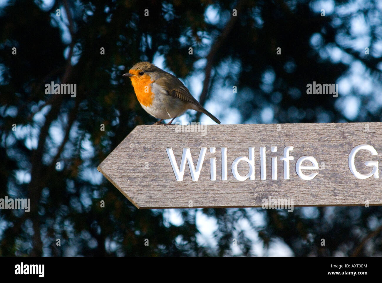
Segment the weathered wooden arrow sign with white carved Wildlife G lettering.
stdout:
<path fill-rule="evenodd" d="M 98 170 L 137 208 L 382 205 L 382 123 L 142 125 Z"/>

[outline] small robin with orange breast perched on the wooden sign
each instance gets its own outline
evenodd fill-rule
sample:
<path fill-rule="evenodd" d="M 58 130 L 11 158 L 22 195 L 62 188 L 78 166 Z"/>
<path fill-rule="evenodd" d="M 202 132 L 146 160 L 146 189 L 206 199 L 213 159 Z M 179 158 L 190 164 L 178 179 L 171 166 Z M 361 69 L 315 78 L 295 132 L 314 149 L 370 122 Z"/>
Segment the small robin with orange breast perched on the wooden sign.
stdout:
<path fill-rule="evenodd" d="M 172 119 L 166 124 L 171 125 L 176 117 L 188 109 L 203 112 L 220 124 L 220 121 L 201 106 L 180 80 L 149 62 L 136 63 L 123 76 L 130 78 L 143 109 L 160 119 L 154 125 L 165 119 Z"/>

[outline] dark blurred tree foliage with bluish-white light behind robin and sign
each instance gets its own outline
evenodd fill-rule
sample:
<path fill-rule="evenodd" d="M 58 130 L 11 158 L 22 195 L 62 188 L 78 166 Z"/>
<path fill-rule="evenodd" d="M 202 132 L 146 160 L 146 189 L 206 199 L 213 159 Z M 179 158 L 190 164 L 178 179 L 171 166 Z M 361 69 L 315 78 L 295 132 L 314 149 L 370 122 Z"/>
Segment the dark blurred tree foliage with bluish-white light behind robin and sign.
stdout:
<path fill-rule="evenodd" d="M 0 210 L 0 255 L 382 255 L 382 207 L 138 210 L 96 169 L 156 121 L 122 77 L 142 60 L 223 124 L 380 122 L 381 21 L 380 0 L 1 0 L 0 198 L 31 211 Z"/>

